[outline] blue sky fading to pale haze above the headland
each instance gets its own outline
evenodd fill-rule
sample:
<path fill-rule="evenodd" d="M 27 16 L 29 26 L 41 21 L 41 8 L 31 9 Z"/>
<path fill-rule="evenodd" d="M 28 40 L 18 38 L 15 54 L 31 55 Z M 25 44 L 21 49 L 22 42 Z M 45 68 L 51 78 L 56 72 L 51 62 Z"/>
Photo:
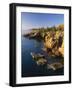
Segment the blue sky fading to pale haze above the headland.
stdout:
<path fill-rule="evenodd" d="M 64 14 L 22 12 L 21 24 L 22 30 L 52 27 L 59 24 L 64 24 Z"/>

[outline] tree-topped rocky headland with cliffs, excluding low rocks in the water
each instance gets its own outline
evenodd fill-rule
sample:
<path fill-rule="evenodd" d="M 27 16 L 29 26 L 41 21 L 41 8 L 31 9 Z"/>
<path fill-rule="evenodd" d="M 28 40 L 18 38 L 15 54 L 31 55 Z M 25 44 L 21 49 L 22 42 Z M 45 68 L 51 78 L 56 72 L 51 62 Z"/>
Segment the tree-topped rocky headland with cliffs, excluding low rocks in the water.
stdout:
<path fill-rule="evenodd" d="M 64 57 L 64 25 L 47 27 L 47 28 L 35 28 L 32 32 L 24 35 L 29 39 L 36 39 L 43 41 L 44 47 L 42 50 L 51 56 Z"/>

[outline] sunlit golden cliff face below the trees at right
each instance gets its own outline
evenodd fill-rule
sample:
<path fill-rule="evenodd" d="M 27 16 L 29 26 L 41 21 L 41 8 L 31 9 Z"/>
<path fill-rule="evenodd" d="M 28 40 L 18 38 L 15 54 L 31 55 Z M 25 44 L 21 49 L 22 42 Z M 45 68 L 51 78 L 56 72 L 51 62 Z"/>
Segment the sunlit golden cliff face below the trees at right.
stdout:
<path fill-rule="evenodd" d="M 64 56 L 64 31 L 50 31 L 45 36 L 44 48 L 50 55 Z"/>

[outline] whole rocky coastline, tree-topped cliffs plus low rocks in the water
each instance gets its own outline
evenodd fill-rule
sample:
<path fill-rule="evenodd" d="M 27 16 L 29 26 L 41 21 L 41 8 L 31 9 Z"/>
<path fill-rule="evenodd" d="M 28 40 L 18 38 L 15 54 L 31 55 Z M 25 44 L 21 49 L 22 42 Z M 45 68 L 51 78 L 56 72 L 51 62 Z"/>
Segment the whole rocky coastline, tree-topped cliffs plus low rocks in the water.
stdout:
<path fill-rule="evenodd" d="M 37 63 L 37 65 L 46 66 L 47 69 L 57 70 L 64 66 L 64 25 L 47 27 L 47 28 L 35 28 L 24 37 L 29 39 L 35 39 L 43 42 L 44 52 L 49 56 L 61 57 L 60 62 L 48 63 L 46 56 L 40 53 L 31 52 L 32 59 Z"/>

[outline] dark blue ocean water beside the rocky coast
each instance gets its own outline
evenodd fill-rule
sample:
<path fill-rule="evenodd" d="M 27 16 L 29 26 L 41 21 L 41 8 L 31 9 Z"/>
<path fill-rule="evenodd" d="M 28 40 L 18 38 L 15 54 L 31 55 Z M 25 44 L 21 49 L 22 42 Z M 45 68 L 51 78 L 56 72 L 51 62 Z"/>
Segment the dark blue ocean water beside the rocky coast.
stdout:
<path fill-rule="evenodd" d="M 44 66 L 38 66 L 36 62 L 32 59 L 31 52 L 45 54 L 42 49 L 43 42 L 37 41 L 34 39 L 25 38 L 22 36 L 21 39 L 21 56 L 22 56 L 22 67 L 21 75 L 22 77 L 34 77 L 34 76 L 55 76 L 55 75 L 64 75 L 64 68 L 58 70 L 47 69 Z M 48 63 L 59 62 L 60 58 L 47 57 Z"/>

